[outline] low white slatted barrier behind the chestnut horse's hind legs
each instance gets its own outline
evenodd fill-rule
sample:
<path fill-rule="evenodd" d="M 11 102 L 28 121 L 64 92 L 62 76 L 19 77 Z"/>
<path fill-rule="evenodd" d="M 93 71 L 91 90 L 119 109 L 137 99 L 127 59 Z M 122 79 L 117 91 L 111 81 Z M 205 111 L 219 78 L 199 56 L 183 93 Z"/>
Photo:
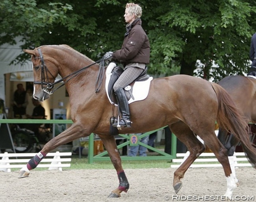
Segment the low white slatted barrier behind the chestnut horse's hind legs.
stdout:
<path fill-rule="evenodd" d="M 178 168 L 180 165 L 187 159 L 189 156 L 189 151 L 186 153 L 178 153 L 176 154 L 176 157 L 181 158 L 175 158 L 173 159 L 173 163 L 179 163 L 179 164 L 173 164 L 171 165 L 172 168 Z M 243 162 L 243 163 L 242 163 Z M 235 152 L 234 153 L 234 165 L 235 167 L 245 167 L 245 166 L 252 166 L 247 158 L 245 157 L 244 152 Z M 222 167 L 221 163 L 218 162 L 215 155 L 211 153 L 202 153 L 198 158 L 195 160 L 195 162 L 190 166 L 192 167 Z"/>

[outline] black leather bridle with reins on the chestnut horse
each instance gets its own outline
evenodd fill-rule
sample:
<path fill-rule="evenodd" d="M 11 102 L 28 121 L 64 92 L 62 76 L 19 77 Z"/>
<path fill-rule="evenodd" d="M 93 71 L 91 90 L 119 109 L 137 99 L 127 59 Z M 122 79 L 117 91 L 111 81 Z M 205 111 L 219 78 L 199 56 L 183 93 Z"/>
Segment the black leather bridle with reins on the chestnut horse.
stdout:
<path fill-rule="evenodd" d="M 34 81 L 33 84 L 37 85 L 41 85 L 41 90 L 43 90 L 43 92 L 52 95 L 54 91 L 56 91 L 57 89 L 59 89 L 60 87 L 64 86 L 65 83 L 67 83 L 70 79 L 72 79 L 73 77 L 75 77 L 76 75 L 78 75 L 79 73 L 81 73 L 83 70 L 86 70 L 87 68 L 93 66 L 94 64 L 100 63 L 100 70 L 99 70 L 99 74 L 97 77 L 97 81 L 96 81 L 96 85 L 98 85 L 98 87 L 95 86 L 96 92 L 98 92 L 102 86 L 102 78 L 103 78 L 103 74 L 104 74 L 104 60 L 100 59 L 96 62 L 94 62 L 93 64 L 90 64 L 88 66 L 85 66 L 79 70 L 77 70 L 76 72 L 70 73 L 69 75 L 59 79 L 58 81 L 54 82 L 54 83 L 50 83 L 49 82 L 49 77 L 48 77 L 48 73 L 54 78 L 54 76 L 52 75 L 52 73 L 48 70 L 44 58 L 43 58 L 43 54 L 40 50 L 40 48 L 37 49 L 38 53 L 39 53 L 39 57 L 35 57 L 34 59 L 40 59 L 41 60 L 41 81 Z M 46 74 L 46 77 L 45 77 Z M 99 77 L 101 76 L 101 77 Z M 67 79 L 67 80 L 65 80 Z M 65 80 L 65 81 L 64 81 Z M 54 89 L 54 85 L 57 83 L 62 82 L 63 83 L 61 85 L 58 86 L 58 88 Z"/>

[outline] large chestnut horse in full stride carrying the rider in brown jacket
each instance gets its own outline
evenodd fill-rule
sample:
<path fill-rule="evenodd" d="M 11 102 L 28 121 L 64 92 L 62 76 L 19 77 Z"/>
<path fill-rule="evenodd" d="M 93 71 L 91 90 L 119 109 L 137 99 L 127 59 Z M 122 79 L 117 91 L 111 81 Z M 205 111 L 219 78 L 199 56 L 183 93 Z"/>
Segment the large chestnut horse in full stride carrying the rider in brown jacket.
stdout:
<path fill-rule="evenodd" d="M 67 45 L 40 46 L 24 52 L 32 55 L 33 97 L 39 101 L 48 99 L 56 90 L 53 84 L 59 73 L 69 93 L 70 115 L 74 123 L 46 143 L 20 170 L 19 178 L 28 176 L 30 170 L 56 147 L 94 132 L 103 141 L 119 178 L 119 186 L 109 197 L 120 197 L 122 191 L 128 191 L 129 183 L 122 168 L 115 138 L 109 132 L 109 119 L 113 112 L 117 113 L 117 107 L 109 102 L 106 95 L 106 75 L 102 76 L 101 90 L 95 92 L 95 83 L 101 75 L 100 65 Z M 225 196 L 232 196 L 236 183 L 228 162 L 227 150 L 214 132 L 216 119 L 219 125 L 237 136 L 252 166 L 256 167 L 256 151 L 249 141 L 247 122 L 230 95 L 218 84 L 189 75 L 153 79 L 147 98 L 130 103 L 130 113 L 132 127 L 123 128 L 122 133 L 148 132 L 168 125 L 189 149 L 188 158 L 174 172 L 173 187 L 176 193 L 182 187 L 181 179 L 189 166 L 205 150 L 204 145 L 196 138 L 198 135 L 222 164 L 227 181 Z"/>

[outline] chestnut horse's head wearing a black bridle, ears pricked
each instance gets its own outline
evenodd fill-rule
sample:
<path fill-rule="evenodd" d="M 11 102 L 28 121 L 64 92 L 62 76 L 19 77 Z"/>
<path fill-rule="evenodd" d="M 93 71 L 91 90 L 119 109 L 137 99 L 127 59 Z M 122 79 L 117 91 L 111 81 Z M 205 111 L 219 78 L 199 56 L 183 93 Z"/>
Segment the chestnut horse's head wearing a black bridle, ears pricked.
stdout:
<path fill-rule="evenodd" d="M 52 60 L 52 57 L 47 57 L 44 53 L 43 46 L 35 48 L 34 50 L 23 50 L 25 53 L 30 54 L 32 60 L 32 70 L 34 76 L 34 91 L 33 97 L 39 101 L 44 101 L 52 94 L 54 87 L 54 80 L 58 75 L 58 67 Z"/>

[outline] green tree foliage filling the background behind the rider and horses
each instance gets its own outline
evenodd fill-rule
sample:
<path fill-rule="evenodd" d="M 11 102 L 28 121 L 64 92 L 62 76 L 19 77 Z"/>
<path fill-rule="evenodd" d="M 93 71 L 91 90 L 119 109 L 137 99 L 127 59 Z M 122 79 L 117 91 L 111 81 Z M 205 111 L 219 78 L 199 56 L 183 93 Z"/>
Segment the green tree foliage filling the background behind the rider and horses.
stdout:
<path fill-rule="evenodd" d="M 134 1 L 136 3 L 136 1 Z M 0 44 L 22 48 L 68 44 L 93 60 L 121 48 L 124 0 L 2 0 Z M 249 68 L 256 2 L 249 0 L 141 0 L 151 45 L 150 73 L 185 73 L 215 81 Z M 18 58 L 20 62 L 27 55 Z M 200 63 L 198 63 L 200 61 Z M 213 63 L 217 64 L 214 65 Z"/>

